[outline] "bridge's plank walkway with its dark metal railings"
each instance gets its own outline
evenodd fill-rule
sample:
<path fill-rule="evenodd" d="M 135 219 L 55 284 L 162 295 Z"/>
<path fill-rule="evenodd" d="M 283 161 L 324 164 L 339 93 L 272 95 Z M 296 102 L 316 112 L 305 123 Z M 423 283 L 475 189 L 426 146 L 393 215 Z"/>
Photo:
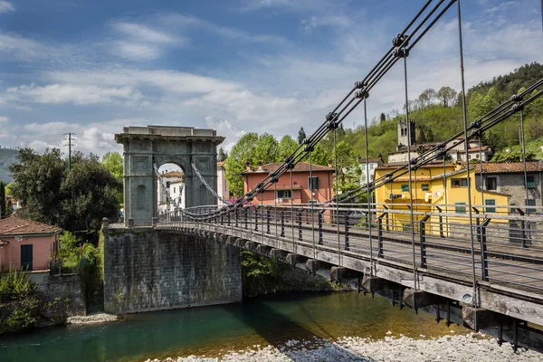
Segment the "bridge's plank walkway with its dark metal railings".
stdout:
<path fill-rule="evenodd" d="M 208 205 L 160 214 L 157 224 L 214 225 L 224 233 L 249 233 L 255 242 L 264 238 L 288 242 L 294 251 L 300 244 L 335 251 L 339 261 L 346 252 L 372 262 L 401 262 L 406 268 L 414 260 L 416 271 L 466 280 L 474 269 L 478 282 L 543 294 L 543 207 L 529 206 L 532 210 L 527 213 L 517 206 L 496 205 L 501 212 L 472 213 L 472 251 L 470 215 L 454 208 L 458 205 L 440 205 L 442 212 L 414 211 L 414 224 L 410 224 L 411 211 L 400 206 Z M 473 207 L 484 210 L 481 205 Z M 465 214 L 445 213 L 445 209 Z M 205 216 L 209 214 L 213 216 Z"/>

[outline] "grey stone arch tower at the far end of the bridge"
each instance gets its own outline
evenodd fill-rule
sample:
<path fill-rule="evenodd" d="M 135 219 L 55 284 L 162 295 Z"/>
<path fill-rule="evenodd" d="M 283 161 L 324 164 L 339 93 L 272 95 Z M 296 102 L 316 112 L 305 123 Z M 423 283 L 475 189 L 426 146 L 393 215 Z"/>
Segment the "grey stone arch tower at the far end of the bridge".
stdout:
<path fill-rule="evenodd" d="M 115 135 L 124 148 L 124 210 L 139 225 L 151 224 L 157 216 L 157 176 L 153 164 L 174 163 L 185 172 L 186 207 L 216 205 L 217 200 L 202 185 L 195 163 L 209 186 L 217 185 L 217 145 L 224 137 L 213 129 L 194 127 L 124 127 Z M 215 190 L 216 191 L 216 190 Z"/>

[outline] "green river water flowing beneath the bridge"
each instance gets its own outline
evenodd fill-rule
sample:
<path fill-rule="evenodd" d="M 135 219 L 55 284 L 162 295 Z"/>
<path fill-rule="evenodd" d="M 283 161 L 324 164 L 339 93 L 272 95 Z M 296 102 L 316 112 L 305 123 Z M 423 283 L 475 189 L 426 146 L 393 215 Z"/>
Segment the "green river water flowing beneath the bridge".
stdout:
<path fill-rule="evenodd" d="M 144 361 L 150 357 L 218 356 L 289 339 L 431 338 L 467 329 L 389 300 L 357 292 L 286 293 L 243 303 L 131 314 L 110 324 L 62 326 L 0 338 L 0 362 Z"/>

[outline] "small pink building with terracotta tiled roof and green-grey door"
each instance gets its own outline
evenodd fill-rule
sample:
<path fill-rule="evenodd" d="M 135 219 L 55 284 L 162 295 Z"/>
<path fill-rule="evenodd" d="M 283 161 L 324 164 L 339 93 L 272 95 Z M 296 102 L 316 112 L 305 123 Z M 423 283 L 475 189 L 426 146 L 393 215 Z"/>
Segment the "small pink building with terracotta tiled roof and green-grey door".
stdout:
<path fill-rule="evenodd" d="M 58 250 L 58 226 L 8 217 L 0 220 L 0 271 L 49 269 L 52 251 Z"/>

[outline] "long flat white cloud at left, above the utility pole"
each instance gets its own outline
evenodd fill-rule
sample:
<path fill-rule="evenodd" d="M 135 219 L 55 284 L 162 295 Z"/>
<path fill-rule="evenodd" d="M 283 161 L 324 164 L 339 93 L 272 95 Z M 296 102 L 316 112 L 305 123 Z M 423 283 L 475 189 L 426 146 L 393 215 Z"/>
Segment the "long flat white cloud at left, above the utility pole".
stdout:
<path fill-rule="evenodd" d="M 14 100 L 32 101 L 36 103 L 72 103 L 89 105 L 97 103 L 112 103 L 119 101 L 134 101 L 141 98 L 141 93 L 132 87 L 108 88 L 95 85 L 52 84 L 38 86 L 35 84 L 8 88 L 8 96 Z"/>

